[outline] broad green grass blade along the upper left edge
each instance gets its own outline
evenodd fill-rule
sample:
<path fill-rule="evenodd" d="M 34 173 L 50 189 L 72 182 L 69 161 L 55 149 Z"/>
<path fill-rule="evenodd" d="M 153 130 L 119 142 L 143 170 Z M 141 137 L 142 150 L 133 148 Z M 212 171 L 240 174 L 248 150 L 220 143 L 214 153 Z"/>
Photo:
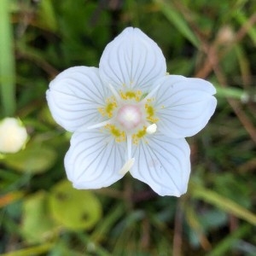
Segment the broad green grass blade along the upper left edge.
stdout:
<path fill-rule="evenodd" d="M 0 1 L 0 96 L 3 116 L 15 114 L 15 53 L 9 0 Z"/>

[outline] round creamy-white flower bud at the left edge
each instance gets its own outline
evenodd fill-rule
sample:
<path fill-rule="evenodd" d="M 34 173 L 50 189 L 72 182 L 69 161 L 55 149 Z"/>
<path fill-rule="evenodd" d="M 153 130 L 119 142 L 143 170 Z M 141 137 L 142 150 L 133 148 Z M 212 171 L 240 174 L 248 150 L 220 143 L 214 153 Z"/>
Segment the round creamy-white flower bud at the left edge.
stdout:
<path fill-rule="evenodd" d="M 5 118 L 0 122 L 0 152 L 16 153 L 25 146 L 26 128 L 20 119 Z"/>

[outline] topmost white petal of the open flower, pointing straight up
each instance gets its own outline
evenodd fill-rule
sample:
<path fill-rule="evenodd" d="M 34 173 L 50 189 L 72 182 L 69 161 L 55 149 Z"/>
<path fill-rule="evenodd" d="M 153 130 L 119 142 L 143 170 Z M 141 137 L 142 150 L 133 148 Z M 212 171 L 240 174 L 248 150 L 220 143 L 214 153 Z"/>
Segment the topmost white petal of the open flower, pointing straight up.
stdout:
<path fill-rule="evenodd" d="M 128 27 L 104 49 L 99 70 L 102 80 L 117 90 L 149 90 L 155 79 L 166 74 L 166 59 L 152 39 Z"/>

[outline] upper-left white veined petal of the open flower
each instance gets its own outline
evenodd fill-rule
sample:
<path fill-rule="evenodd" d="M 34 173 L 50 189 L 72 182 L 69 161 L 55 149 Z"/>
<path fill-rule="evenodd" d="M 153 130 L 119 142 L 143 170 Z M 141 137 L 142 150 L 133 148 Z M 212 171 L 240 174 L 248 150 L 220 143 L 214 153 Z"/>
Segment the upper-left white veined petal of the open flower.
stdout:
<path fill-rule="evenodd" d="M 96 67 L 71 67 L 60 73 L 46 92 L 49 110 L 67 131 L 102 121 L 98 108 L 108 95 Z"/>

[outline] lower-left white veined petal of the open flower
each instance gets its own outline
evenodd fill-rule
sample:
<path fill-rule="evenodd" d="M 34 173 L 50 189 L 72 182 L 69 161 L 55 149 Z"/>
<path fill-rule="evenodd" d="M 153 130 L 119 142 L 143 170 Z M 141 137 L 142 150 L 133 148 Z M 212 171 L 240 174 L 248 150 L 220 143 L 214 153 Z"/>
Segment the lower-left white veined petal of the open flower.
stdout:
<path fill-rule="evenodd" d="M 77 189 L 100 189 L 118 181 L 125 163 L 125 144 L 102 130 L 75 132 L 65 156 L 68 179 Z"/>

